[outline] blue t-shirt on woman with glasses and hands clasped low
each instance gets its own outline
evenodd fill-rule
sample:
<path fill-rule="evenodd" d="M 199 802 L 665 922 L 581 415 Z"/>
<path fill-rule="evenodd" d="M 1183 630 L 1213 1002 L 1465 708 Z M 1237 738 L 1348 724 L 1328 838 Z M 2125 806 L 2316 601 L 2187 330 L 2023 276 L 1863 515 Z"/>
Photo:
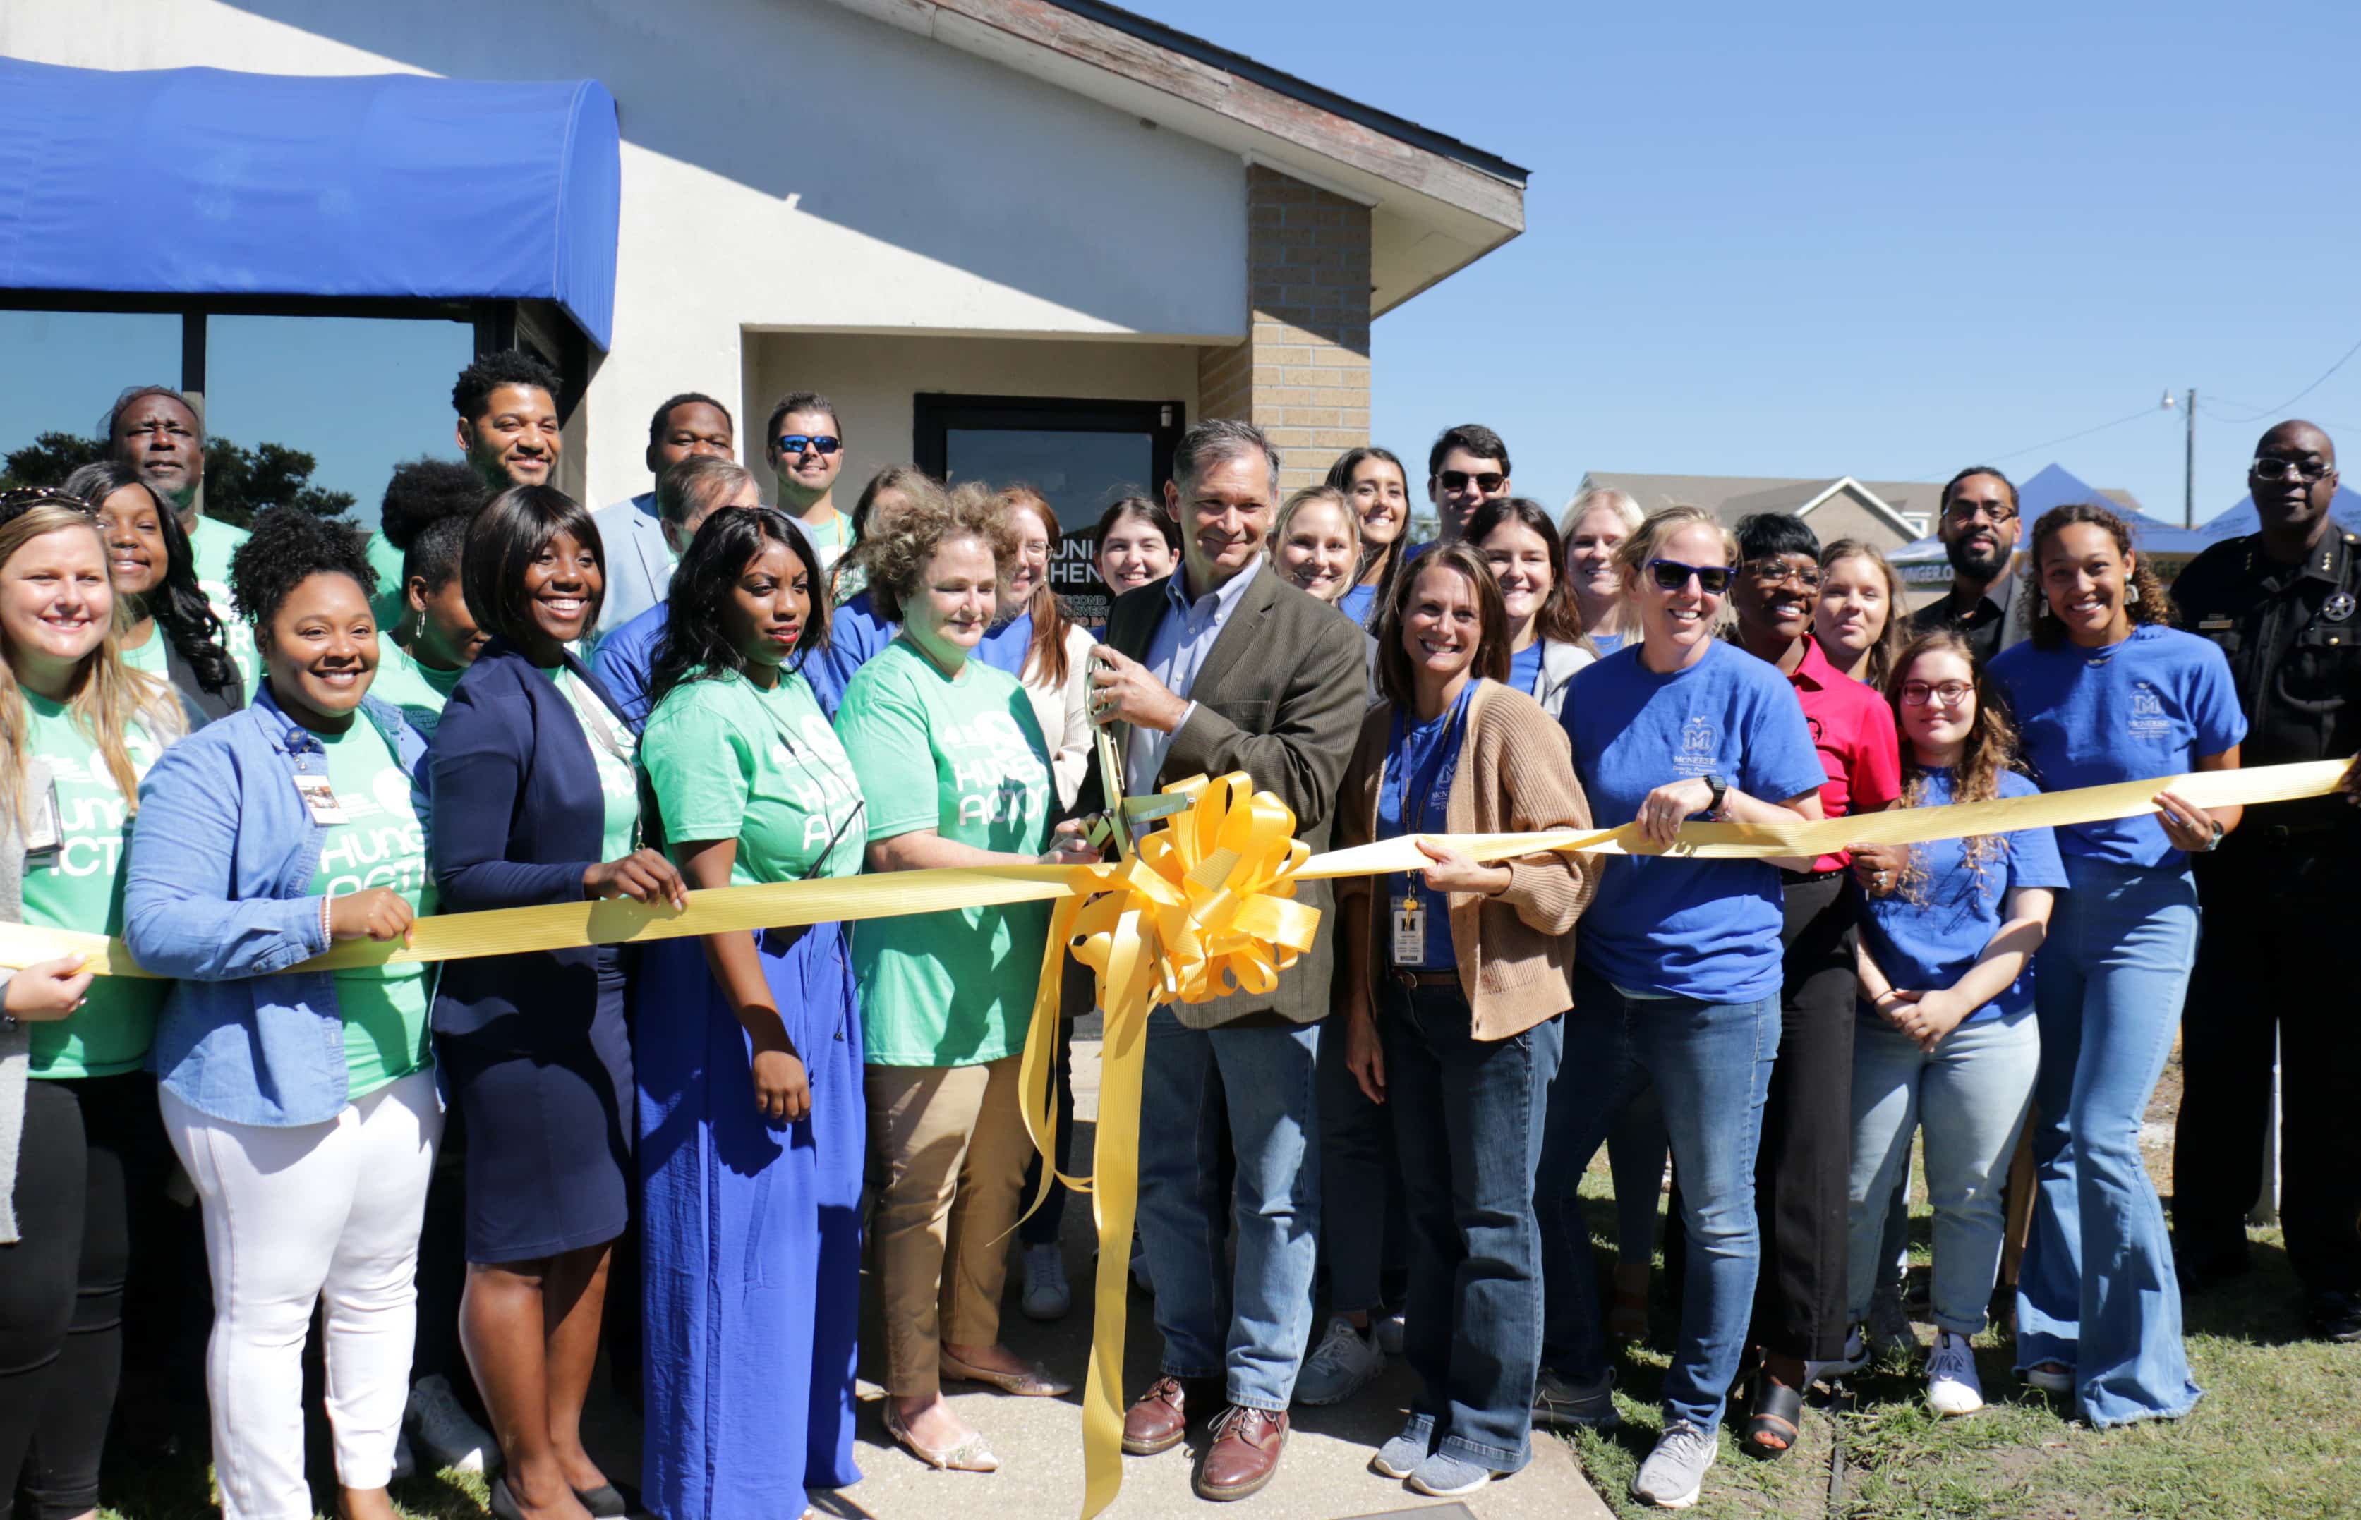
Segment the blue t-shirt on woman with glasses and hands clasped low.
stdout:
<path fill-rule="evenodd" d="M 1927 772 L 1927 788 L 1919 807 L 1943 807 L 1950 802 L 1953 777 L 1948 769 Z M 2002 798 L 2030 798 L 2040 786 L 2016 774 L 2000 772 Z M 2002 899 L 2009 887 L 2064 887 L 2066 866 L 2059 861 L 2056 836 L 2049 828 L 2019 828 L 2002 833 L 2000 847 L 1990 850 L 1976 866 L 1967 861 L 1967 840 L 1934 840 L 1910 845 L 1910 871 L 1903 887 L 1886 897 L 1870 897 L 1860 913 L 1860 935 L 1886 972 L 1886 982 L 1901 991 L 1943 991 L 1969 972 L 1983 946 L 2000 930 Z M 1997 1020 L 2033 1008 L 2033 965 L 1997 998 L 1960 1020 Z M 1868 1001 L 1860 1017 L 1884 1024 Z"/>

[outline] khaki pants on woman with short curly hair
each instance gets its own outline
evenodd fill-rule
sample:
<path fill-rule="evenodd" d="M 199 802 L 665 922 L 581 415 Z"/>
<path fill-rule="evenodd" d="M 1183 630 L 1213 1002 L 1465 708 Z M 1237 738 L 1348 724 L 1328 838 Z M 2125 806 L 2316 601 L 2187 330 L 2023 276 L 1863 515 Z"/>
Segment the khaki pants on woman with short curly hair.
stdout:
<path fill-rule="evenodd" d="M 885 1393 L 940 1388 L 940 1348 L 1001 1338 L 1008 1230 L 1032 1140 L 1018 1060 L 982 1067 L 869 1067 L 876 1267 L 885 1308 Z"/>

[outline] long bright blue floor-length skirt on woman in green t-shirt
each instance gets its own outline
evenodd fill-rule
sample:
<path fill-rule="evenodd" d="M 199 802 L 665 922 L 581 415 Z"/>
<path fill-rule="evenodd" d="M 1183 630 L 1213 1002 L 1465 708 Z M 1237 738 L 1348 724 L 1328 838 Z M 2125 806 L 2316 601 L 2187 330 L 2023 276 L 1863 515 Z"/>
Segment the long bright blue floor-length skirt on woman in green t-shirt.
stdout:
<path fill-rule="evenodd" d="M 791 1520 L 859 1482 L 862 1020 L 843 925 L 772 930 L 763 975 L 812 1114 L 753 1107 L 751 1043 L 696 939 L 647 946 L 635 1064 L 645 1218 L 647 1442 L 666 1520 Z"/>

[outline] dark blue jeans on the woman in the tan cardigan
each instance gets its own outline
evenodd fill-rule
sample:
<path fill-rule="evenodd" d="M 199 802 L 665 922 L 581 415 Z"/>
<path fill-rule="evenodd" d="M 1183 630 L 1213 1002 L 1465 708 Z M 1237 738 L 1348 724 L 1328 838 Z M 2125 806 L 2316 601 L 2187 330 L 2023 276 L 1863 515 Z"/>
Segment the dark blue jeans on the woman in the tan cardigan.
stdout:
<path fill-rule="evenodd" d="M 1402 1355 L 1419 1374 L 1410 1419 L 1435 1449 L 1495 1473 L 1525 1466 L 1542 1369 L 1542 1161 L 1549 1081 L 1565 1031 L 1549 1020 L 1478 1041 L 1457 987 L 1379 994 L 1386 1107 L 1410 1218 Z M 1374 1199 L 1353 1199 L 1367 1211 Z"/>

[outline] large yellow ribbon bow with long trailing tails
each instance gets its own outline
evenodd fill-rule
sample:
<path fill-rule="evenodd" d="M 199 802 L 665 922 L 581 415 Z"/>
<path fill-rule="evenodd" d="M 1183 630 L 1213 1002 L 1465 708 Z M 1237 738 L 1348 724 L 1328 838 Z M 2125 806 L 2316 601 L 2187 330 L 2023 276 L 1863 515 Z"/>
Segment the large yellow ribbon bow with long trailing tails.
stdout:
<path fill-rule="evenodd" d="M 1218 781 L 1190 777 L 1164 788 L 1188 810 L 1140 840 L 1129 859 L 1088 866 L 1091 897 L 1065 897 L 1051 918 L 1041 987 L 1020 1064 L 1025 1128 L 1041 1152 L 1048 1192 L 1058 1154 L 1058 1105 L 1051 1069 L 1065 946 L 1091 968 L 1107 1029 L 1098 1067 L 1098 1142 L 1088 1178 L 1055 1173 L 1091 1194 L 1098 1225 L 1098 1300 L 1091 1326 L 1091 1374 L 1081 1390 L 1084 1520 L 1107 1508 L 1124 1482 L 1124 1275 L 1131 1270 L 1131 1220 L 1138 1213 L 1140 1086 L 1147 1067 L 1147 1010 L 1157 1003 L 1206 1003 L 1232 991 L 1268 994 L 1280 972 L 1313 946 L 1320 909 L 1294 902 L 1291 873 L 1310 850 L 1296 840 L 1296 814 L 1244 772 Z"/>

